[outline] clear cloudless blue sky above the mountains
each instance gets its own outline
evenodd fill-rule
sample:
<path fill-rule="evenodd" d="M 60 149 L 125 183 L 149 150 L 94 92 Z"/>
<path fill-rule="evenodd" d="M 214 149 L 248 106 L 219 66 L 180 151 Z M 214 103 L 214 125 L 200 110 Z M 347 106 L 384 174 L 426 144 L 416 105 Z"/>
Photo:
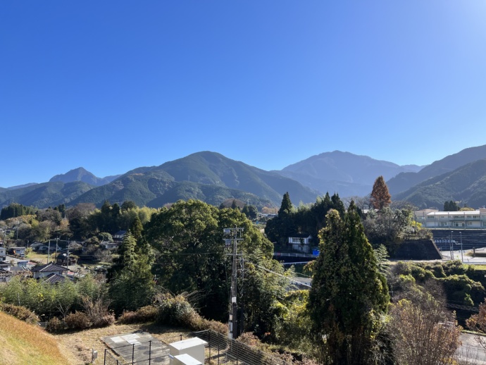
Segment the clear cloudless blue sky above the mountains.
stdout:
<path fill-rule="evenodd" d="M 0 187 L 486 144 L 486 1 L 0 1 Z"/>

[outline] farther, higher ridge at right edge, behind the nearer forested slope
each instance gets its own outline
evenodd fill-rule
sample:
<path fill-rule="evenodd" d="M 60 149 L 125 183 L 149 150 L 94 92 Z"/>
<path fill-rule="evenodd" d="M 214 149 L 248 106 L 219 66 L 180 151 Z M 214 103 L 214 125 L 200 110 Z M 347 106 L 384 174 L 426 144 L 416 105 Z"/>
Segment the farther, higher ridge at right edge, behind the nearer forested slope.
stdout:
<path fill-rule="evenodd" d="M 394 198 L 394 195 L 399 192 L 409 190 L 411 187 L 420 182 L 424 182 L 429 178 L 434 178 L 443 173 L 454 171 L 456 168 L 480 159 L 486 159 L 486 144 L 484 146 L 463 149 L 456 154 L 451 154 L 450 156 L 444 157 L 444 159 L 425 166 L 422 170 L 416 173 L 399 173 L 397 176 L 387 181 L 388 190 L 390 190 L 390 194 L 392 194 L 392 199 L 396 199 Z"/>

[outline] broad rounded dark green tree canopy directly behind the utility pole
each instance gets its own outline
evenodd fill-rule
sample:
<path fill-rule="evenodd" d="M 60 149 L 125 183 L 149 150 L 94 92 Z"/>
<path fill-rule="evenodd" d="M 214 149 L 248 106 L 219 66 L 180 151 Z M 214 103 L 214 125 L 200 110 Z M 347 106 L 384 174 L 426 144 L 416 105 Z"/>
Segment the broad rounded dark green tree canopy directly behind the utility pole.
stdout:
<path fill-rule="evenodd" d="M 271 259 L 273 247 L 237 209 L 217 209 L 189 199 L 163 208 L 145 227 L 147 241 L 158 250 L 155 270 L 160 283 L 174 293 L 199 292 L 201 312 L 225 318 L 221 303 L 228 299 L 230 260 L 223 228 L 242 227 L 243 253 L 258 251 Z"/>

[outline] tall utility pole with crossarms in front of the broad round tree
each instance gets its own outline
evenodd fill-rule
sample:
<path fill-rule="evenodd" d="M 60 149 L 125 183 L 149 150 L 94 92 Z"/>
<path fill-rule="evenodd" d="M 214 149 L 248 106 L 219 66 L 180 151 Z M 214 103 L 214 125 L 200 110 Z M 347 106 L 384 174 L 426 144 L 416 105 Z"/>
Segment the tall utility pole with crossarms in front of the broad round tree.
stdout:
<path fill-rule="evenodd" d="M 237 227 L 235 225 L 235 228 L 225 228 L 223 230 L 223 233 L 225 235 L 230 235 L 232 238 L 230 239 L 225 239 L 225 245 L 226 247 L 231 247 L 231 244 L 233 246 L 233 253 L 232 253 L 232 270 L 231 270 L 231 294 L 230 294 L 230 319 L 228 321 L 228 338 L 230 340 L 236 340 L 237 338 L 237 323 L 238 323 L 238 318 L 237 318 L 237 302 L 236 302 L 236 296 L 237 296 L 237 245 L 239 241 L 242 241 L 243 239 L 241 238 L 242 232 L 244 228 L 242 227 Z M 238 238 L 238 233 L 239 233 L 239 238 Z"/>

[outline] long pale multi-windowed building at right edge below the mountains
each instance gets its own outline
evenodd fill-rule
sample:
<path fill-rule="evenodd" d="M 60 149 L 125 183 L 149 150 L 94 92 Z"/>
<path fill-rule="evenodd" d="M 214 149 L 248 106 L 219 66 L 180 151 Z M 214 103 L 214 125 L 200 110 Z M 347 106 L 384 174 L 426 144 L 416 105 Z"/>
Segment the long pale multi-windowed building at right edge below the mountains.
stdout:
<path fill-rule="evenodd" d="M 486 228 L 486 209 L 475 211 L 416 211 L 415 220 L 426 228 Z"/>

